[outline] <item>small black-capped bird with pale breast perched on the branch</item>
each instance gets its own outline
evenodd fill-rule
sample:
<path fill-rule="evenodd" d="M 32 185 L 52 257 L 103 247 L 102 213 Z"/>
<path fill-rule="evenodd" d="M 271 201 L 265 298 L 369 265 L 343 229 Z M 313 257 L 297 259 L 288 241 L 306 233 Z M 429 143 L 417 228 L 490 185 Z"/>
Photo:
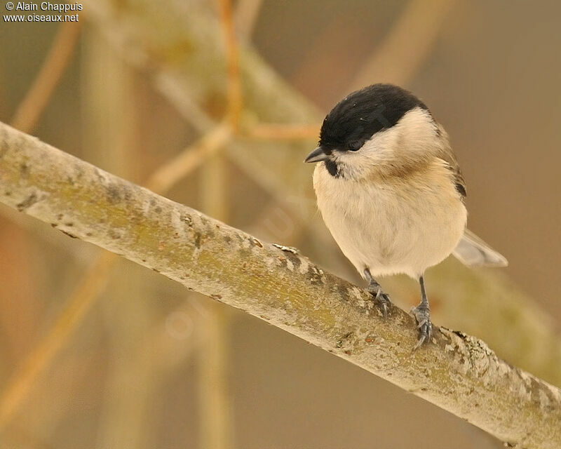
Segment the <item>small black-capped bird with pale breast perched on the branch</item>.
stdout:
<path fill-rule="evenodd" d="M 375 279 L 405 273 L 419 280 L 415 348 L 431 339 L 428 267 L 450 254 L 468 266 L 506 266 L 466 229 L 466 183 L 448 135 L 405 89 L 374 84 L 341 100 L 305 161 L 317 162 L 313 188 L 325 225 L 384 315 L 390 301 Z"/>

